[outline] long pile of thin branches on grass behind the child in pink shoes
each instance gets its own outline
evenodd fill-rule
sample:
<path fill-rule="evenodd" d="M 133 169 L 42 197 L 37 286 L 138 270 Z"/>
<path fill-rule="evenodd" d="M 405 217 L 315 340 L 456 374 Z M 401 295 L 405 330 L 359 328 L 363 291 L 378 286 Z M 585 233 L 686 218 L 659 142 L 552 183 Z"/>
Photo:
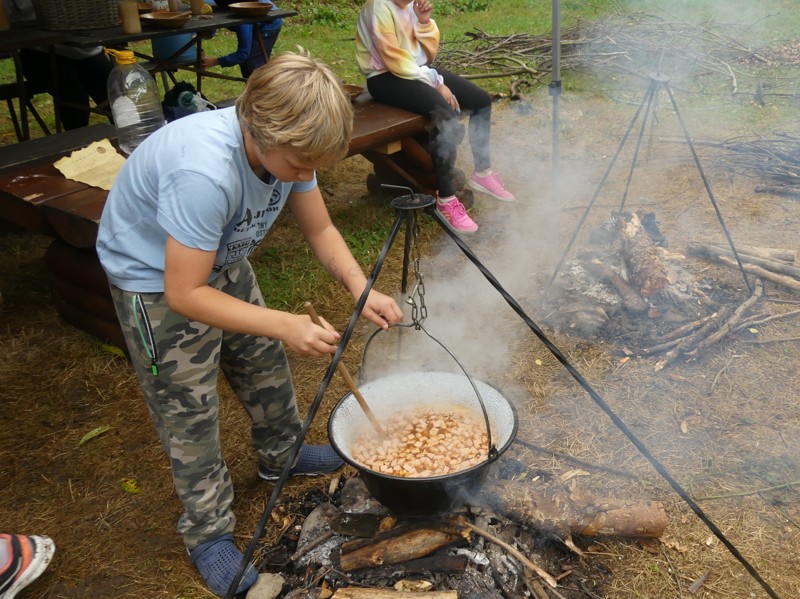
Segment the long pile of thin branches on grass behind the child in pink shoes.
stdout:
<path fill-rule="evenodd" d="M 656 68 L 664 73 L 719 75 L 732 93 L 744 69 L 769 62 L 711 24 L 691 25 L 652 14 L 611 14 L 582 21 L 561 33 L 561 67 L 575 71 L 624 73 L 648 80 Z M 437 63 L 470 79 L 513 77 L 512 96 L 521 86 L 542 82 L 552 72 L 552 39 L 518 33 L 489 35 L 475 30 L 466 39 L 444 42 Z"/>

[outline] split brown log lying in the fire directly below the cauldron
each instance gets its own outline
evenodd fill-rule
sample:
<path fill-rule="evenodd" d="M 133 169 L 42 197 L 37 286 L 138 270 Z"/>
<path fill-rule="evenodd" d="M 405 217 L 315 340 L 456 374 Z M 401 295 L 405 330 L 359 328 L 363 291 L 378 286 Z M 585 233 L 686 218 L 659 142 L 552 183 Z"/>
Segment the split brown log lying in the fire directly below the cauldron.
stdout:
<path fill-rule="evenodd" d="M 342 545 L 340 567 L 345 572 L 398 564 L 465 542 L 469 533 L 453 524 L 417 524 L 397 527 L 375 539 L 356 539 Z"/>

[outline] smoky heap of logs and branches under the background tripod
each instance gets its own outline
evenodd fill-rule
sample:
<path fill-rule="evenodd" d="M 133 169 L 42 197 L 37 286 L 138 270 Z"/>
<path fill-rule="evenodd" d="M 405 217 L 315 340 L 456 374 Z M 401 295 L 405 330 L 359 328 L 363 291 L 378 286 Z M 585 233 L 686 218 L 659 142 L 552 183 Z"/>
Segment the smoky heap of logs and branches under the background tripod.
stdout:
<path fill-rule="evenodd" d="M 594 249 L 566 263 L 548 299 L 546 322 L 574 334 L 613 341 L 626 356 L 654 356 L 655 369 L 696 358 L 743 331 L 800 310 L 778 312 L 766 305 L 774 293 L 800 294 L 797 252 L 689 243 L 684 253 L 668 249 L 653 213 L 614 213 L 593 231 Z M 695 263 L 687 256 L 700 259 Z M 712 278 L 715 269 L 738 272 L 735 284 Z M 694 264 L 699 264 L 697 273 Z M 750 292 L 742 297 L 742 271 Z"/>

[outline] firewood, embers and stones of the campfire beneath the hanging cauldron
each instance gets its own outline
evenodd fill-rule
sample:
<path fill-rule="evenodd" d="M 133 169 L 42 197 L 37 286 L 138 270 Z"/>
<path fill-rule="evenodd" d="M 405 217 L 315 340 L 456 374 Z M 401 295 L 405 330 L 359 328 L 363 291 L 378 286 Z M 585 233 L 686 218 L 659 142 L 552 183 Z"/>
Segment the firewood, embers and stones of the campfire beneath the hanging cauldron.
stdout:
<path fill-rule="evenodd" d="M 593 571 L 584 539 L 657 539 L 665 510 L 655 501 L 597 497 L 570 484 L 569 474 L 546 478 L 490 477 L 470 505 L 421 519 L 393 515 L 358 477 L 334 480 L 336 491 L 312 498 L 301 522 L 294 510 L 285 516 L 260 570 L 273 587 L 277 579 L 277 588 L 292 588 L 290 599 L 600 596 L 602 569 Z M 269 596 L 258 592 L 251 590 Z"/>

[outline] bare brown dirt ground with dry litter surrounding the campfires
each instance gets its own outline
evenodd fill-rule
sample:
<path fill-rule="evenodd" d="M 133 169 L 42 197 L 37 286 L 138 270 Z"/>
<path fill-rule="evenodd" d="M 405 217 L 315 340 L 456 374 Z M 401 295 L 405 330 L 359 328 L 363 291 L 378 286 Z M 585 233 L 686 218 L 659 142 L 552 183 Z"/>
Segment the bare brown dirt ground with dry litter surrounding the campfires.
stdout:
<path fill-rule="evenodd" d="M 586 243 L 583 236 L 619 205 L 629 173 L 627 205 L 655 212 L 672 249 L 695 240 L 724 239 L 686 144 L 669 141 L 680 139 L 681 132 L 666 102 L 657 126 L 644 136 L 636 167 L 630 166 L 631 142 L 578 228 L 639 100 L 636 92 L 617 101 L 580 90 L 562 96 L 560 177 L 555 189 L 547 90 L 537 91 L 524 103 L 497 105 L 494 166 L 520 201 L 501 205 L 478 198 L 473 212 L 481 229 L 465 241 L 534 323 L 543 321 L 542 292 L 570 236 L 578 231 L 574 249 L 580 251 Z M 751 107 L 747 123 L 724 109 L 690 108 L 683 116 L 694 137 L 722 139 L 749 133 L 753 123 L 767 131 L 796 127 L 796 119 L 787 117 L 790 108 Z M 800 204 L 755 194 L 752 179 L 716 170 L 719 156 L 711 149 L 699 151 L 734 240 L 797 249 Z M 466 146 L 459 161 L 469 172 Z M 321 175 L 335 221 L 393 218 L 385 198 L 367 193 L 368 172 L 366 161 L 352 158 Z M 298 243 L 288 218 L 280 220 L 276 236 L 287 245 Z M 180 504 L 127 362 L 64 324 L 55 312 L 42 261 L 48 241 L 8 226 L 0 231 L 4 256 L 0 529 L 47 534 L 58 547 L 48 571 L 24 596 L 210 597 L 175 531 Z M 565 484 L 599 495 L 654 499 L 667 509 L 667 530 L 659 543 L 576 539 L 586 551 L 578 558 L 565 554 L 560 545 L 543 542 L 539 551 L 546 566 L 579 569 L 594 593 L 585 593 L 575 577 L 567 576 L 562 594 L 687 597 L 687 587 L 708 573 L 693 596 L 763 596 L 753 577 L 463 253 L 432 226 L 422 228 L 420 242 L 429 312 L 426 328 L 456 350 L 472 375 L 503 390 L 513 401 L 520 418 L 518 437 L 526 445 L 513 445 L 508 457 L 527 469 L 531 484 L 536 484 L 537 473 L 557 479 L 578 469 L 573 483 Z M 380 243 L 375 244 L 375 257 Z M 400 288 L 402 243 L 395 245 L 378 281 L 378 287 L 388 292 Z M 737 273 L 687 260 L 744 299 L 746 290 Z M 332 285 L 315 295 L 309 299 L 317 311 L 343 330 L 351 300 Z M 767 295 L 770 305 L 787 310 L 800 300 L 775 286 L 768 286 Z M 357 330 L 345 353 L 351 369 L 362 358 L 363 333 Z M 795 559 L 800 551 L 800 320 L 788 318 L 743 332 L 661 372 L 654 371 L 653 358 L 621 356 L 611 341 L 574 335 L 569 329 L 544 333 L 775 591 L 786 598 L 800 596 Z M 380 346 L 370 351 L 386 353 Z M 427 357 L 422 349 L 404 358 L 412 364 L 419 360 L 420 367 L 443 365 L 446 359 Z M 291 359 L 305 413 L 328 361 Z M 381 372 L 380 362 L 371 367 L 375 372 Z M 327 414 L 345 393 L 342 381 L 334 377 L 309 442 L 325 441 Z M 237 493 L 236 539 L 245 547 L 272 486 L 256 476 L 246 416 L 224 383 L 221 396 L 224 452 Z M 108 430 L 81 443 L 97 427 Z M 576 466 L 574 460 L 583 465 Z M 345 474 L 354 473 L 345 470 Z M 269 563 L 285 519 L 301 520 L 310 507 L 328 497 L 329 483 L 328 478 L 286 484 L 258 560 Z"/>

